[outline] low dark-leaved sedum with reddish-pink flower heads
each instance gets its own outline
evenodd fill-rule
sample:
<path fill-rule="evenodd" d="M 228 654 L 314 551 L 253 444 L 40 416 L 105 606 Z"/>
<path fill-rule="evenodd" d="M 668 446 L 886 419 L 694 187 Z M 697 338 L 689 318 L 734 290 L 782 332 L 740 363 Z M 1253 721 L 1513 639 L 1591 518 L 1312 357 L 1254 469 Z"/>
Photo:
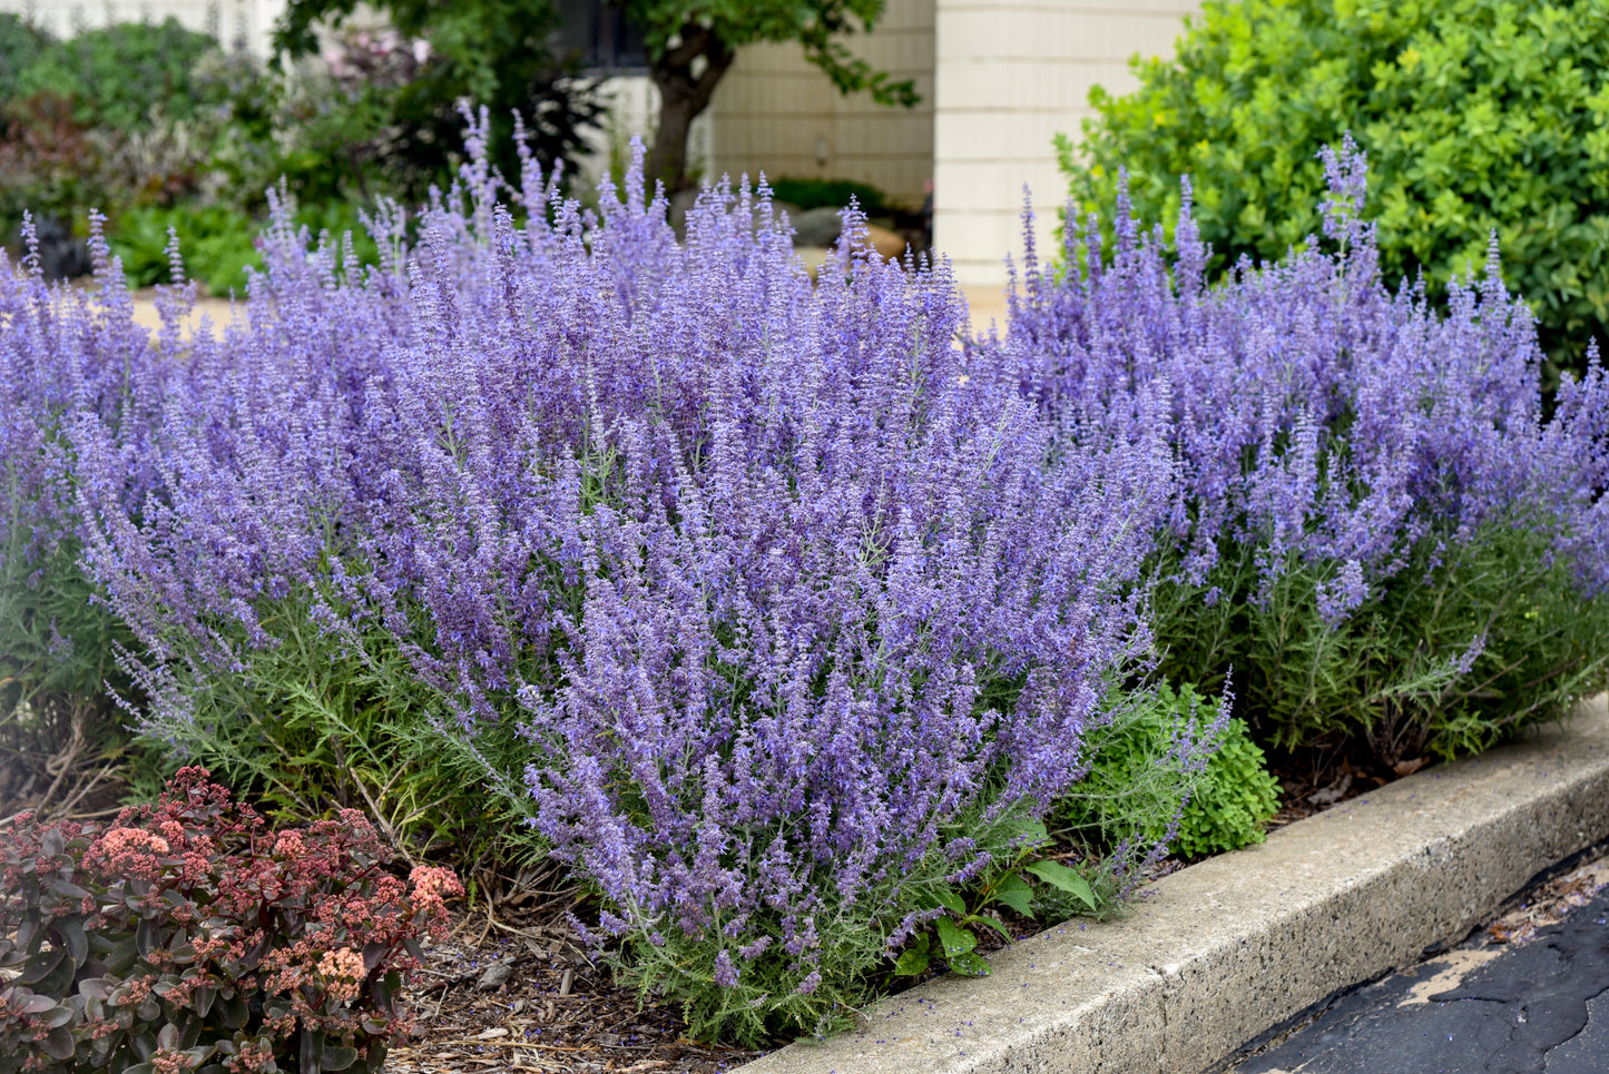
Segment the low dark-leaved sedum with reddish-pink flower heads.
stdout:
<path fill-rule="evenodd" d="M 0 834 L 0 1071 L 378 1071 L 452 873 L 356 810 L 267 831 L 204 769 L 106 825 Z"/>

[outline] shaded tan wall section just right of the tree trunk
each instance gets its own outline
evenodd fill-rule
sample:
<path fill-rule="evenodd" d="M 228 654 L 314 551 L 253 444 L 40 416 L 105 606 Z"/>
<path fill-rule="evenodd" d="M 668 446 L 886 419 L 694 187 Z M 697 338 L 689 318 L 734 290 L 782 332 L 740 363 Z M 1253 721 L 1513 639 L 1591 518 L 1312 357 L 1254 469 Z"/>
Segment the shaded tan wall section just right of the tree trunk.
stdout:
<path fill-rule="evenodd" d="M 895 79 L 914 79 L 922 103 L 887 108 L 840 95 L 795 43 L 740 48 L 710 103 L 711 177 L 853 178 L 917 207 L 933 175 L 933 0 L 888 0 L 851 51 Z"/>

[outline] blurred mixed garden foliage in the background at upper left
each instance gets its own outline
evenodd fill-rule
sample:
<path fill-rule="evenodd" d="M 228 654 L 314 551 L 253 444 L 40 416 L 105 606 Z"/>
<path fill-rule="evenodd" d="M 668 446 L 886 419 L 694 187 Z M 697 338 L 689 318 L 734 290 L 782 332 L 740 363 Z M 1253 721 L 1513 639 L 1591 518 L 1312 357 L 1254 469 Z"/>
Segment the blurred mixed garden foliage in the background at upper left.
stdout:
<path fill-rule="evenodd" d="M 0 14 L 0 235 L 19 254 L 31 212 L 47 275 L 80 275 L 98 209 L 134 286 L 167 281 L 172 227 L 191 278 L 243 293 L 269 188 L 314 233 L 354 230 L 372 260 L 357 207 L 446 190 L 462 98 L 492 111 L 505 175 L 518 175 L 515 111 L 544 172 L 573 159 L 602 113 L 595 84 L 545 37 L 496 69 L 465 63 L 465 27 L 447 23 L 346 27 L 274 66 L 174 19 L 53 39 Z"/>

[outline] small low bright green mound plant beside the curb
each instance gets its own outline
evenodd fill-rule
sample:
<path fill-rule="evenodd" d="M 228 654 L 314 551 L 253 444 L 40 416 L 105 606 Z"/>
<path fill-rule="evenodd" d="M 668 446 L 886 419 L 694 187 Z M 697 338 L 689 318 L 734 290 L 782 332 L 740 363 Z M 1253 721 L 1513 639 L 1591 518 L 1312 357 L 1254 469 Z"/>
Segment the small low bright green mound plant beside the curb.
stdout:
<path fill-rule="evenodd" d="M 1279 785 L 1242 720 L 1223 724 L 1199 773 L 1170 764 L 1178 728 L 1204 701 L 1191 685 L 1175 691 L 1162 683 L 1154 703 L 1131 719 L 1091 732 L 1094 767 L 1059 806 L 1057 823 L 1112 839 L 1133 831 L 1138 817 L 1141 839 L 1154 842 L 1176 822 L 1168 846 L 1184 857 L 1261 842 L 1263 825 L 1279 809 Z"/>

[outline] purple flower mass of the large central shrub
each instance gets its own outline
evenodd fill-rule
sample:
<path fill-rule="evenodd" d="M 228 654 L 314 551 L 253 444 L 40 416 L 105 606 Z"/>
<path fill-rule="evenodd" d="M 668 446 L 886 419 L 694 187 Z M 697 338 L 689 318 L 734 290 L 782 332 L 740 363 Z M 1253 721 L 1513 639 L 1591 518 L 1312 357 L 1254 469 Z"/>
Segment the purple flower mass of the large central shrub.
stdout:
<path fill-rule="evenodd" d="M 808 1027 L 932 915 L 914 878 L 975 875 L 1088 767 L 1150 651 L 1167 423 L 1059 441 L 1007 355 L 957 344 L 944 270 L 850 243 L 813 283 L 747 188 L 677 244 L 640 170 L 591 217 L 534 166 L 502 188 L 481 130 L 410 252 L 375 222 L 377 268 L 270 230 L 154 442 L 76 410 L 146 730 L 230 719 L 208 682 L 282 690 L 309 625 L 360 659 L 381 637 L 462 748 L 518 728 L 492 785 L 607 931 L 692 952 L 658 986 L 764 981 L 745 1003 Z"/>

